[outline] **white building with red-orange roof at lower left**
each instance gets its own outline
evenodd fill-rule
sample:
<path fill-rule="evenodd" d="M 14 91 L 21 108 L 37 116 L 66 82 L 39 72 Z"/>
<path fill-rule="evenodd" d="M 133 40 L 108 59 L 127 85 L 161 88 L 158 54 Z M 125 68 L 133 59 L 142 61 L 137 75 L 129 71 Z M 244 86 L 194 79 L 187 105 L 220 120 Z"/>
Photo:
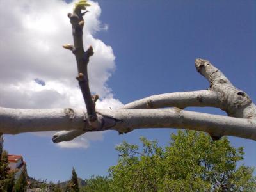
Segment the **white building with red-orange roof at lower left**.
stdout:
<path fill-rule="evenodd" d="M 8 162 L 11 171 L 15 171 L 15 180 L 20 177 L 20 174 L 24 170 L 27 175 L 26 162 L 23 161 L 23 157 L 20 155 L 8 155 Z"/>

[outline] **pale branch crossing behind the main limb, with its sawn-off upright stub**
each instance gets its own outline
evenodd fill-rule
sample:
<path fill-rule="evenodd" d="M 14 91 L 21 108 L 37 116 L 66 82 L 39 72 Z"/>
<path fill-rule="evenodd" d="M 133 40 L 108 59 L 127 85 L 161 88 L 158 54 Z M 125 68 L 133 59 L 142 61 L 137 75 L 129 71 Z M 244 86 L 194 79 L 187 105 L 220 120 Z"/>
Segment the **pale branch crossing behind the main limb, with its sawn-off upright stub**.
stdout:
<path fill-rule="evenodd" d="M 209 61 L 203 59 L 195 60 L 196 69 L 210 83 L 209 90 L 195 92 L 177 92 L 153 95 L 144 99 L 136 100 L 126 104 L 122 109 L 147 109 L 177 107 L 184 109 L 188 106 L 215 107 L 227 112 L 228 116 L 237 118 L 256 119 L 256 107 L 246 93 L 235 88 L 218 68 Z M 72 140 L 75 136 L 84 134 L 86 131 L 67 131 L 62 136 L 62 132 L 56 132 L 54 138 L 58 141 Z M 223 134 L 209 132 L 214 139 L 221 138 Z M 68 136 L 70 135 L 70 136 Z M 56 140 L 53 141 L 56 142 Z"/>

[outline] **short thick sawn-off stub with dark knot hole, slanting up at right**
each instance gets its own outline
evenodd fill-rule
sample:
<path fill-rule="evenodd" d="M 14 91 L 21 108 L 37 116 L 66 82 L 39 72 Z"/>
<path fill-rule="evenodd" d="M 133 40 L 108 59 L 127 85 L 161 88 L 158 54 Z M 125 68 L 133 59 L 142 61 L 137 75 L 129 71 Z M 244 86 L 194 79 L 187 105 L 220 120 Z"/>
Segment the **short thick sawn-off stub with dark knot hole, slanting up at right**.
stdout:
<path fill-rule="evenodd" d="M 209 81 L 209 90 L 221 95 L 221 109 L 226 111 L 228 116 L 256 118 L 256 106 L 250 97 L 234 87 L 218 68 L 203 59 L 196 59 L 195 65 L 198 72 Z"/>

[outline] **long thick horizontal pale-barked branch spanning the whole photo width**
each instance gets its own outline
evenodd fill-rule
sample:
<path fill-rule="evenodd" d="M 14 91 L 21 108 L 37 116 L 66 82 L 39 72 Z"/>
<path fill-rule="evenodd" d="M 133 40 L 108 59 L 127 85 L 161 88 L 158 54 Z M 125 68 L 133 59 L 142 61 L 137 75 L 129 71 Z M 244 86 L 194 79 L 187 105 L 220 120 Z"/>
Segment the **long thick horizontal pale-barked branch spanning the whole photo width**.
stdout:
<path fill-rule="evenodd" d="M 239 136 L 256 140 L 256 121 L 252 119 L 196 113 L 181 109 L 117 109 L 100 110 L 102 127 L 94 129 L 84 122 L 82 109 L 0 109 L 0 132 L 116 130 L 120 133 L 140 128 L 180 128 L 208 132 L 212 136 Z M 112 124 L 115 120 L 115 124 Z"/>

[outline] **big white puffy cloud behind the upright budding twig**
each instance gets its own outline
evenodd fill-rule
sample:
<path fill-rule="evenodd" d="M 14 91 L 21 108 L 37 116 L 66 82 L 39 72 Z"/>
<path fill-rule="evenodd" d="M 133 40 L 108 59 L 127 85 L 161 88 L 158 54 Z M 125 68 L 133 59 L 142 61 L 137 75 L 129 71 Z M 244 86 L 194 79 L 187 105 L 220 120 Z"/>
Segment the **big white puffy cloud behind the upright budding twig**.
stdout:
<path fill-rule="evenodd" d="M 0 106 L 83 107 L 75 79 L 76 61 L 71 52 L 61 48 L 72 43 L 67 13 L 72 11 L 73 3 L 61 0 L 1 0 L 0 3 Z M 122 104 L 106 84 L 115 70 L 115 56 L 109 45 L 93 36 L 100 30 L 108 30 L 108 25 L 99 20 L 99 4 L 93 1 L 90 4 L 84 29 L 84 47 L 92 45 L 95 52 L 88 66 L 90 89 L 100 95 L 97 108 L 117 108 Z M 90 140 L 102 140 L 102 132 L 87 133 L 58 146 L 86 148 Z"/>

